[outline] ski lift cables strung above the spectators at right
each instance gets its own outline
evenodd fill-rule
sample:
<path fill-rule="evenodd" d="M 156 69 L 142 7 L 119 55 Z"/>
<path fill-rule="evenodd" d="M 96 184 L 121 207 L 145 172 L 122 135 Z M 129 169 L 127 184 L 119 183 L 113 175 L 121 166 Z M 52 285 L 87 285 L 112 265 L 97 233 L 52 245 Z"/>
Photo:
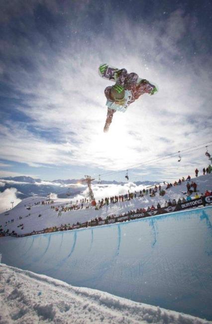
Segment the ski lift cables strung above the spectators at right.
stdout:
<path fill-rule="evenodd" d="M 197 145 L 197 146 L 194 146 L 194 147 L 189 148 L 189 149 L 184 149 L 184 150 L 182 150 L 182 151 L 180 151 L 180 152 L 182 153 L 182 152 L 189 151 L 189 150 L 192 150 L 192 149 L 195 149 L 195 148 L 197 148 L 197 149 L 192 150 L 192 151 L 189 151 L 188 153 L 191 153 L 191 152 L 193 152 L 193 151 L 197 151 L 197 150 L 201 150 L 201 149 L 204 149 L 203 145 L 208 144 L 208 143 L 212 143 L 212 141 L 207 142 L 207 143 L 204 143 L 204 144 L 200 144 L 200 145 Z M 201 146 L 201 147 L 200 147 L 200 146 Z M 209 145 L 209 147 L 210 147 L 210 146 L 212 146 L 212 144 Z M 155 161 L 157 161 L 157 160 L 158 160 L 157 162 L 159 162 L 159 161 L 163 161 L 164 159 L 174 158 L 174 157 L 178 156 L 178 153 L 179 153 L 179 151 L 178 151 L 178 152 L 175 152 L 175 153 L 168 154 L 168 155 L 166 155 L 166 156 L 164 156 L 164 157 L 158 157 L 158 158 L 151 159 L 151 160 L 148 160 L 148 161 L 145 161 L 145 162 L 141 162 L 141 163 L 133 164 L 133 165 L 131 165 L 130 167 L 128 167 L 128 170 L 129 170 L 129 169 L 133 169 L 133 168 L 138 168 L 138 167 L 139 167 L 140 165 L 142 165 L 142 164 L 148 164 L 148 163 L 151 163 L 151 162 L 155 162 Z M 176 154 L 177 154 L 177 155 L 176 155 Z M 185 155 L 185 154 L 184 154 L 184 155 Z M 112 175 L 112 174 L 114 174 L 114 173 L 123 172 L 124 170 L 126 170 L 126 168 L 121 168 L 121 169 L 118 169 L 118 170 L 116 170 L 116 171 L 111 171 L 111 172 L 102 173 L 101 176 L 102 176 L 102 177 L 103 177 L 103 176 L 105 177 L 105 176 L 108 176 L 108 175 Z"/>

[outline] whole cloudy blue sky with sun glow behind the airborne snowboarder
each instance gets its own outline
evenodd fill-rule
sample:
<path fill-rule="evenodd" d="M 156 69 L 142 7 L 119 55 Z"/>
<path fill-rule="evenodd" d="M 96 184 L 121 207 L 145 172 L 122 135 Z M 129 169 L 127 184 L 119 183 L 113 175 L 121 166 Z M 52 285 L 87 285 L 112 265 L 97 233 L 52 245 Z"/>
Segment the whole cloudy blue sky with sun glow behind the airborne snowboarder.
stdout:
<path fill-rule="evenodd" d="M 211 30 L 209 0 L 1 1 L 0 176 L 98 177 L 209 142 Z M 103 62 L 159 85 L 107 134 Z M 207 164 L 202 149 L 130 176 L 172 179 Z"/>

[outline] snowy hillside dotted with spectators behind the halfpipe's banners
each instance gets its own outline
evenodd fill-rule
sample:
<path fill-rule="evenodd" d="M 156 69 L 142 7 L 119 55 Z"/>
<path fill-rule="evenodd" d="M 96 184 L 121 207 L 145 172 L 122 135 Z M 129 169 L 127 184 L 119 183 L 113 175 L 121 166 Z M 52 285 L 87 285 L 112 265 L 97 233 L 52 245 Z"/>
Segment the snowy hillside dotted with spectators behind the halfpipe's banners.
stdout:
<path fill-rule="evenodd" d="M 207 175 L 202 175 L 197 178 L 191 179 L 196 181 L 198 184 L 197 189 L 199 193 L 204 193 L 207 189 L 212 190 L 212 173 Z M 132 186 L 131 186 L 132 187 Z M 134 190 L 141 190 L 143 186 L 134 186 Z M 166 188 L 166 185 L 162 186 L 162 188 Z M 165 200 L 174 198 L 178 200 L 178 198 L 185 197 L 186 195 L 182 192 L 186 192 L 186 182 L 182 183 L 178 186 L 173 186 L 170 189 L 166 190 L 165 196 L 161 197 L 158 193 L 156 193 L 155 197 L 150 197 L 149 195 L 144 196 L 142 198 L 136 197 L 132 200 L 127 200 L 124 202 L 116 202 L 116 203 L 109 203 L 108 206 L 103 206 L 100 210 L 95 210 L 94 207 L 89 206 L 86 208 L 88 204 L 84 204 L 83 208 L 72 210 L 72 211 L 62 211 L 61 216 L 58 216 L 58 211 L 55 211 L 55 208 L 58 207 L 59 210 L 62 209 L 62 206 L 67 207 L 70 206 L 71 199 L 55 199 L 53 204 L 45 204 L 42 205 L 41 201 L 46 201 L 46 197 L 29 197 L 23 199 L 17 206 L 13 208 L 13 210 L 9 210 L 8 212 L 4 212 L 0 214 L 0 225 L 2 226 L 3 230 L 9 229 L 9 232 L 15 231 L 17 234 L 25 234 L 30 233 L 33 230 L 39 231 L 43 230 L 47 227 L 52 226 L 60 226 L 62 224 L 76 224 L 77 222 L 86 222 L 91 220 L 92 218 L 101 216 L 105 218 L 107 215 L 115 214 L 116 216 L 120 215 L 121 213 L 127 212 L 129 210 L 133 210 L 136 208 L 141 207 L 148 207 L 152 204 L 157 205 L 160 202 L 161 206 L 164 205 Z M 133 191 L 132 191 L 133 192 Z M 103 190 L 104 193 L 104 190 Z M 127 191 L 125 192 L 127 193 Z M 119 194 L 119 192 L 114 193 L 111 195 Z M 193 195 L 194 196 L 194 195 Z M 103 196 L 102 198 L 105 198 Z M 35 205 L 40 201 L 39 205 Z M 30 206 L 30 210 L 26 209 Z M 52 208 L 54 206 L 55 208 Z M 81 204 L 79 204 L 81 207 Z M 41 215 L 40 217 L 38 217 Z M 22 217 L 19 219 L 19 217 Z M 14 221 L 11 223 L 11 220 Z M 7 224 L 6 224 L 7 222 Z M 22 226 L 19 226 L 23 224 Z M 18 226 L 18 227 L 17 227 Z"/>

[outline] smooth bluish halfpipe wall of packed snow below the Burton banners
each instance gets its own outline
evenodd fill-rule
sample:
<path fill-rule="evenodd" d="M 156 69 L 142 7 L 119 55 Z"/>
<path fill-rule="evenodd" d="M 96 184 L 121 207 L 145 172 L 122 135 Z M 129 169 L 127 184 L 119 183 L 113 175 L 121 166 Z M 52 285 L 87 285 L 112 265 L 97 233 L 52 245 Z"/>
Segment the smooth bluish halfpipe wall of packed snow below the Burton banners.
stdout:
<path fill-rule="evenodd" d="M 212 320 L 212 207 L 0 238 L 2 263 Z"/>

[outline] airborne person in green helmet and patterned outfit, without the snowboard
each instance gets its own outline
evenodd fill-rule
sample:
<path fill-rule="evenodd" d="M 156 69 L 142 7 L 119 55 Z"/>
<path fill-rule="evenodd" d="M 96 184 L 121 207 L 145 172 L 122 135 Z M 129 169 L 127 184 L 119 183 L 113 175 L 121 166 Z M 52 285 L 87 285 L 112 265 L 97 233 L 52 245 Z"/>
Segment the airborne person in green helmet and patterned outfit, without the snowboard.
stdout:
<path fill-rule="evenodd" d="M 105 89 L 107 106 L 109 104 L 111 108 L 107 108 L 104 132 L 108 132 L 113 114 L 116 112 L 116 109 L 112 109 L 113 105 L 111 104 L 115 103 L 118 106 L 123 106 L 123 109 L 126 109 L 129 104 L 144 93 L 153 95 L 157 91 L 156 86 L 145 79 L 138 82 L 138 75 L 136 73 L 127 73 L 126 69 L 119 70 L 115 85 L 106 87 Z"/>

